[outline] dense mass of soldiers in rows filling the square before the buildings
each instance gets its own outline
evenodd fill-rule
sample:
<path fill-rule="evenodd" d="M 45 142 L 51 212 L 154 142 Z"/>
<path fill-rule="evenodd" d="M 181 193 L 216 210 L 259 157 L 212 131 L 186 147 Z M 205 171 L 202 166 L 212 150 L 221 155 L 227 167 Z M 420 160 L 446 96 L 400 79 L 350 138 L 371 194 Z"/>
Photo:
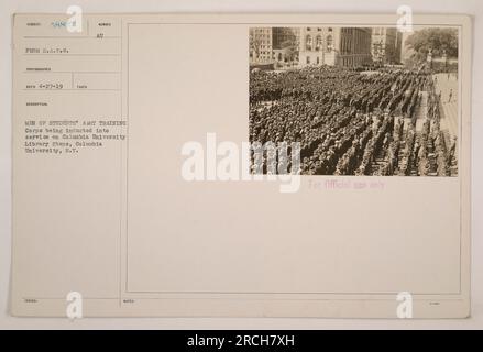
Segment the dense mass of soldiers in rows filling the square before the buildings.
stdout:
<path fill-rule="evenodd" d="M 299 142 L 304 175 L 451 176 L 457 141 L 440 129 L 440 99 L 424 72 L 252 72 L 250 141 Z"/>

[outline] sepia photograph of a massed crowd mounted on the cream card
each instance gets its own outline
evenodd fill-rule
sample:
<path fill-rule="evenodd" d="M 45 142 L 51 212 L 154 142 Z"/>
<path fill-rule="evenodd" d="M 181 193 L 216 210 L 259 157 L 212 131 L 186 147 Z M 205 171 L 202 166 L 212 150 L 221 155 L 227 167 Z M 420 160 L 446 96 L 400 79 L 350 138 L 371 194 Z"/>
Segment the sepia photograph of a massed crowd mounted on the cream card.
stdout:
<path fill-rule="evenodd" d="M 459 30 L 250 28 L 250 142 L 301 175 L 458 176 Z"/>

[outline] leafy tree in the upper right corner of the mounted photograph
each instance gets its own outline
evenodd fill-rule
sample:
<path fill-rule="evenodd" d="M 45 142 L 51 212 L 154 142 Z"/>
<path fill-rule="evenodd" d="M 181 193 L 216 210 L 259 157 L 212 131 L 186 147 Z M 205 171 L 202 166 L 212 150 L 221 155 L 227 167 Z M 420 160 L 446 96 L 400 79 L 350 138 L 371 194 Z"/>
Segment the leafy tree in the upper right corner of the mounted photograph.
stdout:
<path fill-rule="evenodd" d="M 418 61 L 426 59 L 429 51 L 436 57 L 446 52 L 448 57 L 458 57 L 458 30 L 455 29 L 425 29 L 415 32 L 406 40 L 406 46 L 415 54 Z"/>

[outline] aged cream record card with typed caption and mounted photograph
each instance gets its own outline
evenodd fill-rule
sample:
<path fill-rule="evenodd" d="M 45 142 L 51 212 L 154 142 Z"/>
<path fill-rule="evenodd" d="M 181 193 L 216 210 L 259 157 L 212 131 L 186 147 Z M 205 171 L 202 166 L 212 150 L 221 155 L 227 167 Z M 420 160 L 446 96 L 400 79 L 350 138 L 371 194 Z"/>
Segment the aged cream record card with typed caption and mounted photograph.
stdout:
<path fill-rule="evenodd" d="M 13 315 L 469 316 L 469 18 L 68 19 L 13 18 Z"/>

